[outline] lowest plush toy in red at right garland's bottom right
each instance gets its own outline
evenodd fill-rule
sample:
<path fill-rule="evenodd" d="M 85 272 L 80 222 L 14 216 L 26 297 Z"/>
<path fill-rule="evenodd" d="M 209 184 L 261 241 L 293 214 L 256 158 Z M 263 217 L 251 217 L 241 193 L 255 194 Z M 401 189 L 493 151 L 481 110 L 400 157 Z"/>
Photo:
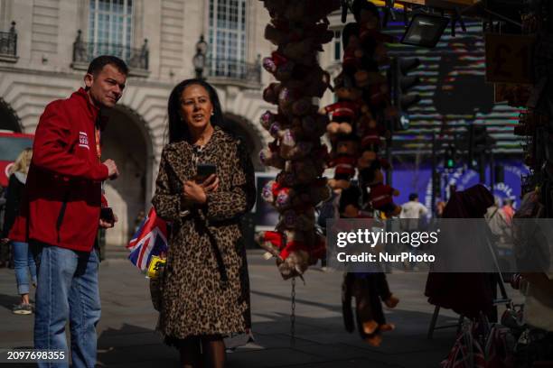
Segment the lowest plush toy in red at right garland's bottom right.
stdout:
<path fill-rule="evenodd" d="M 370 189 L 370 204 L 376 210 L 383 212 L 387 217 L 398 216 L 401 207 L 396 205 L 392 196 L 398 197 L 399 192 L 387 184 L 383 184 L 381 163 L 379 160 L 372 161 L 370 167 L 360 170 L 361 182 Z"/>

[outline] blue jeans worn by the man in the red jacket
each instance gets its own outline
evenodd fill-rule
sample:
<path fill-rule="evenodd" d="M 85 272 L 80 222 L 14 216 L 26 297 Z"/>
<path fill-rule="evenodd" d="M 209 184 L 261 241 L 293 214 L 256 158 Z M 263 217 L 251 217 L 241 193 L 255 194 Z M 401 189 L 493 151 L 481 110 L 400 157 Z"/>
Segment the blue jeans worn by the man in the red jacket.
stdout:
<path fill-rule="evenodd" d="M 65 324 L 70 320 L 73 367 L 94 368 L 96 325 L 100 317 L 98 253 L 76 252 L 48 244 L 37 251 L 38 286 L 34 315 L 34 348 L 68 354 Z M 69 363 L 39 363 L 68 367 Z"/>

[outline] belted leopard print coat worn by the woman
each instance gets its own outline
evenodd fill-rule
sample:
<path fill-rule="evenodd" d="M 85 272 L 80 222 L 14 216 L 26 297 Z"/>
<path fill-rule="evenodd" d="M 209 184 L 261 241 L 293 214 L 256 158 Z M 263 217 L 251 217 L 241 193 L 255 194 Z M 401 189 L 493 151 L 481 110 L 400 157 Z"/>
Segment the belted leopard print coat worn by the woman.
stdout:
<path fill-rule="evenodd" d="M 244 144 L 219 127 L 202 152 L 194 151 L 186 142 L 164 147 L 152 198 L 157 214 L 173 223 L 158 324 L 170 344 L 187 336 L 230 335 L 250 327 L 248 264 L 239 216 L 255 203 L 253 165 Z M 208 193 L 201 207 L 183 204 L 183 183 L 196 174 L 194 154 L 198 162 L 216 164 L 220 179 L 219 188 Z"/>

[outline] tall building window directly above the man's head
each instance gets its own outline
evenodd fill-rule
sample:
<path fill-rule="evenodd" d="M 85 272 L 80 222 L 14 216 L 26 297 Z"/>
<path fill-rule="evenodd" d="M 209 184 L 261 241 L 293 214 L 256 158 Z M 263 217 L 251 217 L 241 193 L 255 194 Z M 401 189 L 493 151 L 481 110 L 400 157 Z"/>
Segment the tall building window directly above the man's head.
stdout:
<path fill-rule="evenodd" d="M 94 55 L 130 58 L 133 0 L 90 0 L 89 42 Z"/>

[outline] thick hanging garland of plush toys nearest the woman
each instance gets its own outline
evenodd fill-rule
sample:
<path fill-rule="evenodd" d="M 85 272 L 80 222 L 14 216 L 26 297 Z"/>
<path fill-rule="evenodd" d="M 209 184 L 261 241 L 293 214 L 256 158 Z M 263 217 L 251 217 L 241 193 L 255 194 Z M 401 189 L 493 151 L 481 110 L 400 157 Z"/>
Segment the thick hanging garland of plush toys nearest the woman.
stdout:
<path fill-rule="evenodd" d="M 330 76 L 316 55 L 333 40 L 326 16 L 339 9 L 341 1 L 261 1 L 271 17 L 265 38 L 277 47 L 263 60 L 263 68 L 277 79 L 265 88 L 263 98 L 277 106 L 277 113 L 267 111 L 260 118 L 273 141 L 259 159 L 281 171 L 262 189 L 262 198 L 279 212 L 277 229 L 258 234 L 257 241 L 277 258 L 286 280 L 301 276 L 326 249 L 323 236 L 315 231 L 314 212 L 331 194 L 322 178 L 328 150 L 321 143 L 329 120 L 313 101 L 329 87 Z"/>

